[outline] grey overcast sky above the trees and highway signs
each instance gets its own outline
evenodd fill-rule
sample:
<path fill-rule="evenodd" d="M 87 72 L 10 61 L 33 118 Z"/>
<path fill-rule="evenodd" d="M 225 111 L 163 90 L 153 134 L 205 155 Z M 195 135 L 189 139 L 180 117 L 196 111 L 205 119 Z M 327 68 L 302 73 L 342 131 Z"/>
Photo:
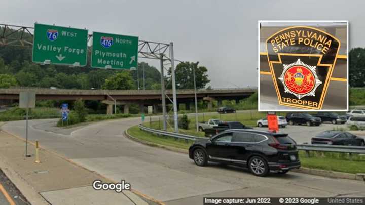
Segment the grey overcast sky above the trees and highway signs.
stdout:
<path fill-rule="evenodd" d="M 213 88 L 257 87 L 258 20 L 349 20 L 349 48 L 365 47 L 365 1 L 1 0 L 1 7 L 0 23 L 173 42 L 176 59 L 208 68 Z M 159 68 L 158 60 L 147 62 Z"/>

